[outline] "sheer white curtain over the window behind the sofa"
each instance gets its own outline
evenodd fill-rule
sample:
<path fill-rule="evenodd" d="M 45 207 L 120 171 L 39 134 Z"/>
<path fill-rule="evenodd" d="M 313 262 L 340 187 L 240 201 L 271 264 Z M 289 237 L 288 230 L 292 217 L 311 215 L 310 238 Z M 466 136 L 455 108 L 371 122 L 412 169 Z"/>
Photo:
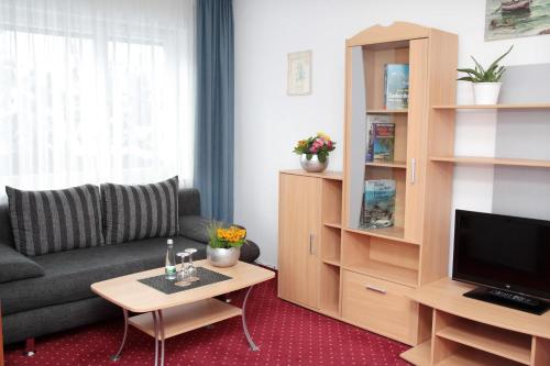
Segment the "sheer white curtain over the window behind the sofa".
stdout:
<path fill-rule="evenodd" d="M 194 0 L 0 0 L 0 189 L 193 181 Z"/>

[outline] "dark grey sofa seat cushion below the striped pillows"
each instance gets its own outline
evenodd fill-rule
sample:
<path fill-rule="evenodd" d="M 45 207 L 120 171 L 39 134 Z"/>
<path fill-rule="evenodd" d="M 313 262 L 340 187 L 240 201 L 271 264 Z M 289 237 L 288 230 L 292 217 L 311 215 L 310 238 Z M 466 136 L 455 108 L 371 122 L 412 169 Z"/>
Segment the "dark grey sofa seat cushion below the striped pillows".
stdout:
<path fill-rule="evenodd" d="M 201 243 L 175 237 L 174 248 L 195 247 L 194 259 L 206 257 Z M 75 249 L 34 257 L 44 276 L 0 284 L 2 313 L 10 314 L 96 296 L 90 285 L 118 276 L 164 266 L 166 239 Z"/>

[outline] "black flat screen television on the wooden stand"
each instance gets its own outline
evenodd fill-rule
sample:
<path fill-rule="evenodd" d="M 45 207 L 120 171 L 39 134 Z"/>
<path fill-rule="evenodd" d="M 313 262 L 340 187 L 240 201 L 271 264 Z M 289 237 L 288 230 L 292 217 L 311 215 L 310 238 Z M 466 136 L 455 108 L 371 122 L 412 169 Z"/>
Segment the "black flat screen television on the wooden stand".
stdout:
<path fill-rule="evenodd" d="M 466 297 L 543 313 L 550 306 L 550 221 L 457 210 L 452 278 Z"/>

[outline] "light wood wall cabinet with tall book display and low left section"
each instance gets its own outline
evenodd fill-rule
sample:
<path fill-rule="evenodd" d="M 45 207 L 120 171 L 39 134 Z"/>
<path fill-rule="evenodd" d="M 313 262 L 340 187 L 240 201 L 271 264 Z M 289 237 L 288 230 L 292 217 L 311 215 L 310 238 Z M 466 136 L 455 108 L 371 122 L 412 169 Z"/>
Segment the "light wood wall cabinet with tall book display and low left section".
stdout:
<path fill-rule="evenodd" d="M 454 114 L 428 106 L 455 100 L 458 37 L 410 23 L 375 25 L 346 40 L 345 57 L 343 174 L 279 175 L 278 296 L 417 345 L 431 313 L 408 296 L 448 269 L 453 170 L 430 163 L 428 152 L 452 154 Z M 388 63 L 410 66 L 407 109 L 384 108 Z M 391 114 L 394 162 L 365 163 L 369 114 Z M 391 228 L 360 228 L 370 179 L 396 182 Z"/>

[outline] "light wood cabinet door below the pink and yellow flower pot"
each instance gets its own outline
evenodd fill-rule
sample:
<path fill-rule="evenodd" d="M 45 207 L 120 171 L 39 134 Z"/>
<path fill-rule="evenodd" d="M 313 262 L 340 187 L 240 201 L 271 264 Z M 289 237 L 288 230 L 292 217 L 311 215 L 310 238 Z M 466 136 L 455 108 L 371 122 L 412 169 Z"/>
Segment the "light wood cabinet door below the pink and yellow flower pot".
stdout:
<path fill-rule="evenodd" d="M 319 308 L 321 179 L 280 174 L 278 296 Z"/>

